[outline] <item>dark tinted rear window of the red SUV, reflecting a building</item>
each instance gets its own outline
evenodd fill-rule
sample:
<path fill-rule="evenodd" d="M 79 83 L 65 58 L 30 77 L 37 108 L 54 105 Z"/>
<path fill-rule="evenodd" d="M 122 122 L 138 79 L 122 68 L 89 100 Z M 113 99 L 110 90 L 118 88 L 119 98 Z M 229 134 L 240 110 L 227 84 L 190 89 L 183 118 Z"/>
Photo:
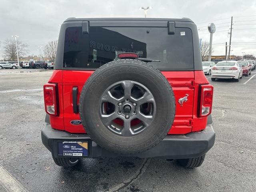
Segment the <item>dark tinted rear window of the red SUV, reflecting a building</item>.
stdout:
<path fill-rule="evenodd" d="M 90 27 L 89 34 L 82 34 L 82 27 L 67 28 L 63 67 L 99 68 L 122 52 L 160 60 L 150 63 L 160 70 L 194 69 L 191 30 L 168 34 L 168 28 L 157 27 Z"/>

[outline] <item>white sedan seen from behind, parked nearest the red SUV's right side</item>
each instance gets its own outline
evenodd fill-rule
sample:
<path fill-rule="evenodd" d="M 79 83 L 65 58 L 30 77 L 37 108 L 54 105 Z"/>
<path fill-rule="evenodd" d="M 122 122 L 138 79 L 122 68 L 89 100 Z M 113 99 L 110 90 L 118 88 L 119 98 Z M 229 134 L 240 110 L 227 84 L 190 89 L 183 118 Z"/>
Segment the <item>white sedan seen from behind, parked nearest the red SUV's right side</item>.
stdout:
<path fill-rule="evenodd" d="M 243 76 L 243 69 L 237 61 L 221 61 L 212 68 L 212 81 L 216 78 L 234 79 L 239 81 Z"/>

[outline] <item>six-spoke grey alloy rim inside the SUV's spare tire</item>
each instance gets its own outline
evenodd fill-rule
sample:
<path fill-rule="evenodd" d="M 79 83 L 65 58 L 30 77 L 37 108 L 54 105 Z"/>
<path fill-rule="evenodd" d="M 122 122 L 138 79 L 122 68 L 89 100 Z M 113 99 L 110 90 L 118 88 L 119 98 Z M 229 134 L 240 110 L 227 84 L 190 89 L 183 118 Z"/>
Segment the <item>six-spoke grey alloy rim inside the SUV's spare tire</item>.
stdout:
<path fill-rule="evenodd" d="M 130 80 L 109 86 L 100 99 L 102 123 L 115 134 L 130 137 L 148 128 L 154 119 L 156 102 L 144 85 Z"/>

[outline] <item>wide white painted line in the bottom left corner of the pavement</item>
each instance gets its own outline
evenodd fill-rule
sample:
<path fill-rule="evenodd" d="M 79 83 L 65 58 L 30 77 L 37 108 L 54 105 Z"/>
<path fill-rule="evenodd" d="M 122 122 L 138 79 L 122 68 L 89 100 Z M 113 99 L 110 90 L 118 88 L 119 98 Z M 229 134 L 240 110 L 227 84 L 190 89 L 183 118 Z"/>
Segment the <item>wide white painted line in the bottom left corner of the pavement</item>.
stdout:
<path fill-rule="evenodd" d="M 0 183 L 8 192 L 28 192 L 2 165 L 0 165 Z"/>

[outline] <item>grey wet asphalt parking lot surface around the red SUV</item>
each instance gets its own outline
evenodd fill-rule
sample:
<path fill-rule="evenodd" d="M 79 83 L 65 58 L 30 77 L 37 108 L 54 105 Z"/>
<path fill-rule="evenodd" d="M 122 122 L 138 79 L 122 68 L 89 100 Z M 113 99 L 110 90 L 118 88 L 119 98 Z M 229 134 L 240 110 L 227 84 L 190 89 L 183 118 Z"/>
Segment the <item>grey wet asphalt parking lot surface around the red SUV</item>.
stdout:
<path fill-rule="evenodd" d="M 195 169 L 157 158 L 121 157 L 84 159 L 80 166 L 68 169 L 56 166 L 41 142 L 45 124 L 42 86 L 51 74 L 52 70 L 0 71 L 0 172 L 8 172 L 10 178 L 18 181 L 13 184 L 14 189 L 31 192 L 255 191 L 255 71 L 240 82 L 212 82 L 207 76 L 214 85 L 212 117 L 216 142 L 202 166 Z M 0 174 L 0 180 L 3 179 L 4 175 Z M 0 185 L 0 192 L 4 191 Z"/>

